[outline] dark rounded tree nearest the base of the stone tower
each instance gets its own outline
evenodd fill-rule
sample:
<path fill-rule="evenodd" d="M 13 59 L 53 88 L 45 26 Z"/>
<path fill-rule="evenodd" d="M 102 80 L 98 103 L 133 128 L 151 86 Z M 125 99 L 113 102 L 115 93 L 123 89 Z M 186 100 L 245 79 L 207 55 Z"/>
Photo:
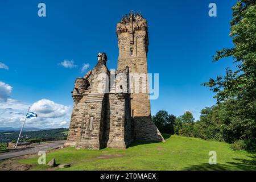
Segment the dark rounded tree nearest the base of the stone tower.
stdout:
<path fill-rule="evenodd" d="M 174 134 L 174 115 L 168 114 L 165 110 L 160 110 L 152 117 L 152 121 L 158 127 L 160 133 Z"/>

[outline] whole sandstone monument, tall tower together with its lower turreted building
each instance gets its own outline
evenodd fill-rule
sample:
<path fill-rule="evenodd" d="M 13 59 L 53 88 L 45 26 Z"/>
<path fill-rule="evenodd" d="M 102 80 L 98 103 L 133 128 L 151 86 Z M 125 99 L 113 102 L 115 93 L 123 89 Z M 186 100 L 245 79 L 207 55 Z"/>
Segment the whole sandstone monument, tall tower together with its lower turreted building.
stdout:
<path fill-rule="evenodd" d="M 131 12 L 122 17 L 116 32 L 118 70 L 109 71 L 106 53 L 99 53 L 93 70 L 76 79 L 64 146 L 98 150 L 126 148 L 133 140 L 164 141 L 151 121 L 147 20 Z"/>

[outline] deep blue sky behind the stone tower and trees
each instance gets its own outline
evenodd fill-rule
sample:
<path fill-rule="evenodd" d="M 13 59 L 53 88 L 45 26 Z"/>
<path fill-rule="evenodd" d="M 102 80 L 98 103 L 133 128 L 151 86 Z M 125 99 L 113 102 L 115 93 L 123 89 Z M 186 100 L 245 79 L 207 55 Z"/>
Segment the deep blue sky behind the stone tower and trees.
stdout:
<path fill-rule="evenodd" d="M 40 2 L 46 4 L 46 17 L 38 16 Z M 208 16 L 211 2 L 217 5 L 217 17 Z M 131 10 L 141 11 L 148 20 L 148 72 L 159 73 L 159 98 L 151 101 L 152 114 L 167 110 L 179 116 L 189 110 L 198 119 L 201 109 L 216 102 L 214 93 L 200 84 L 223 75 L 226 67 L 233 68 L 232 60 L 212 63 L 212 56 L 216 50 L 233 45 L 229 22 L 235 3 L 0 1 L 0 63 L 6 66 L 1 68 L 0 64 L 0 127 L 18 127 L 19 114 L 32 104 L 42 113 L 51 107 L 56 114 L 59 106 L 63 109 L 60 112 L 68 114 L 44 115 L 41 122 L 35 120 L 29 126 L 68 127 L 75 78 L 84 75 L 84 64 L 89 64 L 86 71 L 94 67 L 98 52 L 107 53 L 109 69 L 117 68 L 115 25 Z M 65 68 L 60 64 L 64 60 L 76 66 Z M 16 107 L 15 103 L 23 105 Z M 16 112 L 16 120 L 6 113 L 7 108 Z M 44 125 L 46 121 L 54 124 Z"/>

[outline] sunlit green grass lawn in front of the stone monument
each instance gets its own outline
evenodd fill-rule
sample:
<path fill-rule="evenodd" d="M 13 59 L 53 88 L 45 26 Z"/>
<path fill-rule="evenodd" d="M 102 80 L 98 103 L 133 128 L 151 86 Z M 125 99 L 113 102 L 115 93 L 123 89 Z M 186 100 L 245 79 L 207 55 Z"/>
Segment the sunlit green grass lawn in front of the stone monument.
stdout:
<path fill-rule="evenodd" d="M 229 144 L 198 138 L 165 136 L 166 142 L 134 142 L 126 150 L 100 151 L 64 148 L 47 153 L 47 162 L 71 163 L 62 170 L 256 170 L 255 154 L 233 151 Z M 208 163 L 209 151 L 217 152 L 217 165 Z M 32 170 L 48 169 L 37 164 L 39 156 L 19 160 L 33 164 Z M 55 168 L 60 170 L 59 168 Z"/>

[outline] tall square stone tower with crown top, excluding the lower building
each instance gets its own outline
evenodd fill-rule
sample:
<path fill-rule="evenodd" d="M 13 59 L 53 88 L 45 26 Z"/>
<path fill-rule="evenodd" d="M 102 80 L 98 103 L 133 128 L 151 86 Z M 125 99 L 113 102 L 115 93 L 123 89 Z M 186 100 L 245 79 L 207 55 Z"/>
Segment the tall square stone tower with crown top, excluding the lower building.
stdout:
<path fill-rule="evenodd" d="M 148 31 L 147 20 L 141 13 L 122 16 L 117 24 L 118 70 L 129 67 L 131 117 L 134 119 L 135 139 L 164 140 L 151 121 L 147 81 Z M 139 85 L 138 85 L 139 84 Z"/>

